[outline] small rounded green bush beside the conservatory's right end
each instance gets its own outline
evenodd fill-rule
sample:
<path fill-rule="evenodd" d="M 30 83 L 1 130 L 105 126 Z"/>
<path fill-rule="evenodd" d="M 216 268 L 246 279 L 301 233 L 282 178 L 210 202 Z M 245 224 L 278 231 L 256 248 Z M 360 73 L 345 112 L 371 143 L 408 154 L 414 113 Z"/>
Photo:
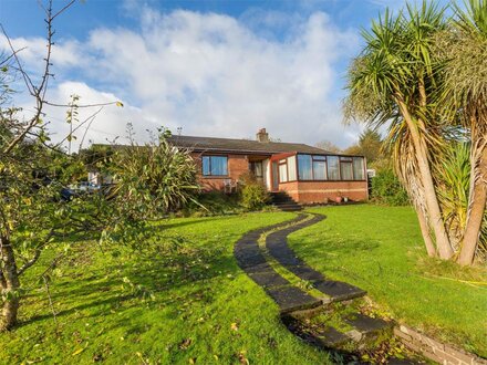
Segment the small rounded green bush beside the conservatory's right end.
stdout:
<path fill-rule="evenodd" d="M 372 201 L 387 206 L 407 206 L 410 198 L 392 169 L 379 171 L 372 178 Z"/>

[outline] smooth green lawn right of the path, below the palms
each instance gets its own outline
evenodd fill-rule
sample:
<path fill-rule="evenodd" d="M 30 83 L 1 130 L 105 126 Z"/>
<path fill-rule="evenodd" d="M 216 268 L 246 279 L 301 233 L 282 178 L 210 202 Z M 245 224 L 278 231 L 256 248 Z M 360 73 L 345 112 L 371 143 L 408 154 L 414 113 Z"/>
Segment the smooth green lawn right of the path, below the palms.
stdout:
<path fill-rule="evenodd" d="M 487 269 L 426 257 L 414 211 L 370 205 L 313 208 L 328 218 L 289 237 L 327 277 L 369 292 L 377 312 L 487 356 Z"/>

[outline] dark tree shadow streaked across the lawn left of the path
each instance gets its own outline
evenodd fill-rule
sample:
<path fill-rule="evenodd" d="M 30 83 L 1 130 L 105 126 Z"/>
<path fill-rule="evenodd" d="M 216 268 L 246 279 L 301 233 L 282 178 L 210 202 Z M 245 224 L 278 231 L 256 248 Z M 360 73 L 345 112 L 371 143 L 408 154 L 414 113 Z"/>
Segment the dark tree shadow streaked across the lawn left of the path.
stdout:
<path fill-rule="evenodd" d="M 160 257 L 139 259 L 143 260 L 124 267 L 120 274 L 115 272 L 121 270 L 121 264 L 114 263 L 96 270 L 96 274 L 90 271 L 74 281 L 70 278 L 54 282 L 52 300 L 63 306 L 56 317 L 62 320 L 79 312 L 83 312 L 80 317 L 99 317 L 112 310 L 123 312 L 141 305 L 179 307 L 187 301 L 210 303 L 213 288 L 209 290 L 208 284 L 216 278 L 239 271 L 234 255 L 222 254 L 218 249 L 194 250 L 174 260 Z M 37 295 L 28 296 L 37 300 Z M 21 321 L 20 325 L 53 317 L 48 307 L 42 311 L 42 314 Z"/>

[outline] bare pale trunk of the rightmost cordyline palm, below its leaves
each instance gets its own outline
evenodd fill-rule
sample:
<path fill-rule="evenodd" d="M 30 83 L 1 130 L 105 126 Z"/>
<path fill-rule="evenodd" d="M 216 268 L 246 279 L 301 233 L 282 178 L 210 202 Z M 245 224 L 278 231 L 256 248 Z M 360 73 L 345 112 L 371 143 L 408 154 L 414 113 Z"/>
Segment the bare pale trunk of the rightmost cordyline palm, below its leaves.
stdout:
<path fill-rule="evenodd" d="M 472 148 L 475 148 L 473 144 Z M 479 156 L 476 158 L 475 156 Z M 468 198 L 468 217 L 462 241 L 458 263 L 469 265 L 474 262 L 475 251 L 480 237 L 481 222 L 487 204 L 487 144 L 480 153 L 472 150 L 470 194 Z M 478 173 L 478 174 L 477 174 Z"/>

